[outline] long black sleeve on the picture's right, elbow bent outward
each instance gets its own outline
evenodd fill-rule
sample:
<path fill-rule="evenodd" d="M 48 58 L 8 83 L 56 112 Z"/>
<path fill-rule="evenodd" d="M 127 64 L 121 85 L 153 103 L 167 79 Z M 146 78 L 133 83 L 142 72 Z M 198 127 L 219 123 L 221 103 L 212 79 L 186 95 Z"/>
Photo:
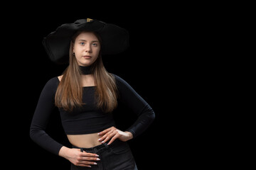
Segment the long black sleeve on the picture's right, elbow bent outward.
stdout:
<path fill-rule="evenodd" d="M 137 120 L 127 129 L 128 132 L 132 132 L 132 135 L 135 138 L 151 125 L 154 121 L 155 113 L 151 106 L 149 106 L 149 104 L 146 103 L 134 89 L 132 89 L 132 86 L 127 84 L 124 79 L 117 75 L 114 75 L 114 77 L 117 81 L 117 88 L 119 90 L 119 101 L 131 108 L 132 111 L 137 114 Z"/>

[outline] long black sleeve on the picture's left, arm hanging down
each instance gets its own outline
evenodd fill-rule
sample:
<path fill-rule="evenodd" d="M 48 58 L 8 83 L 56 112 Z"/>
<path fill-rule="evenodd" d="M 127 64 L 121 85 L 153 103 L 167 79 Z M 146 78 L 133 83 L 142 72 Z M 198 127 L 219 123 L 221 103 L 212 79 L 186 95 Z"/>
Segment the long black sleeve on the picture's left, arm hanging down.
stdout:
<path fill-rule="evenodd" d="M 55 108 L 54 96 L 57 86 L 58 77 L 54 77 L 43 87 L 31 122 L 30 136 L 38 145 L 49 152 L 58 155 L 58 152 L 63 145 L 53 140 L 53 138 L 46 133 L 48 119 L 53 112 L 53 108 Z"/>

